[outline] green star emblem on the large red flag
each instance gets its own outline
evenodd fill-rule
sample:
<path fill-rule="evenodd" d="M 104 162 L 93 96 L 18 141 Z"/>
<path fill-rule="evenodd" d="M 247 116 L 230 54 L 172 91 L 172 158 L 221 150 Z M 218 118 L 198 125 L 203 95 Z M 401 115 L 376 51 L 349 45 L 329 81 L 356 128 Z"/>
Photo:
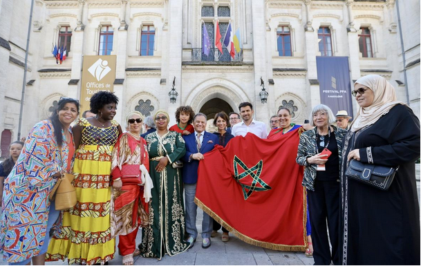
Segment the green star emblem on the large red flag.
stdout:
<path fill-rule="evenodd" d="M 244 172 L 238 173 L 238 167 L 241 167 Z M 252 193 L 254 191 L 268 191 L 269 189 L 272 189 L 268 184 L 265 183 L 265 181 L 261 180 L 260 175 L 263 170 L 263 160 L 260 160 L 254 167 L 248 168 L 247 165 L 243 161 L 240 160 L 236 155 L 234 155 L 234 179 L 238 184 L 241 185 L 241 188 L 243 189 L 243 196 L 244 200 L 247 200 L 250 196 L 252 196 Z M 256 171 L 256 173 L 254 173 Z M 240 182 L 243 178 L 246 178 L 248 175 L 252 178 L 252 184 L 243 184 Z M 258 184 L 261 185 L 261 187 L 257 187 Z"/>

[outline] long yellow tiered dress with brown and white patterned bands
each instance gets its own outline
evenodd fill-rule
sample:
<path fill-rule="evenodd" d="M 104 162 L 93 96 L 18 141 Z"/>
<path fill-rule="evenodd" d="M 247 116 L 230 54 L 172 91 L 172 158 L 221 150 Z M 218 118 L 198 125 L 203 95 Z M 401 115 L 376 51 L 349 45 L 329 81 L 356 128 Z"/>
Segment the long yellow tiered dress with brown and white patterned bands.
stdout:
<path fill-rule="evenodd" d="M 69 264 L 103 265 L 115 252 L 110 229 L 110 172 L 118 123 L 111 121 L 110 127 L 99 128 L 82 118 L 77 124 L 83 128 L 73 168 L 77 203 L 64 211 L 62 230 L 50 241 L 46 260 L 67 257 Z"/>

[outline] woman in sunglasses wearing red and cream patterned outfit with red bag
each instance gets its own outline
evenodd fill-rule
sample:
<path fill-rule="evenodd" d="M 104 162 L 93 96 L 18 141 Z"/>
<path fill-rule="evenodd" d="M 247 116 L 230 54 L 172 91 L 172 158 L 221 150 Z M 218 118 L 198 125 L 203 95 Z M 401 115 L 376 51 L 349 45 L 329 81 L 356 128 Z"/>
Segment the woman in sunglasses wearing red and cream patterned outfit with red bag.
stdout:
<path fill-rule="evenodd" d="M 118 249 L 123 265 L 133 265 L 138 227 L 149 223 L 147 202 L 151 199 L 152 180 L 149 176 L 149 156 L 146 141 L 140 137 L 143 115 L 130 112 L 129 131 L 120 135 L 114 146 L 111 177 L 111 236 L 119 236 Z"/>

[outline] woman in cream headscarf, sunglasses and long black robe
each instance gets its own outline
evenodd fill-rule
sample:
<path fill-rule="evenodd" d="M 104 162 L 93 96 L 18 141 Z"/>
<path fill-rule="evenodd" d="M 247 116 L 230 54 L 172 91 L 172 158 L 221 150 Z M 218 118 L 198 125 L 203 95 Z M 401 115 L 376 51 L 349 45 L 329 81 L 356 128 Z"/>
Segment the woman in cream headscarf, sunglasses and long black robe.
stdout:
<path fill-rule="evenodd" d="M 395 88 L 379 75 L 355 82 L 359 111 L 344 137 L 339 232 L 343 265 L 420 265 L 420 208 L 415 160 L 420 158 L 420 122 L 398 102 Z M 350 160 L 398 167 L 382 191 L 347 178 Z"/>

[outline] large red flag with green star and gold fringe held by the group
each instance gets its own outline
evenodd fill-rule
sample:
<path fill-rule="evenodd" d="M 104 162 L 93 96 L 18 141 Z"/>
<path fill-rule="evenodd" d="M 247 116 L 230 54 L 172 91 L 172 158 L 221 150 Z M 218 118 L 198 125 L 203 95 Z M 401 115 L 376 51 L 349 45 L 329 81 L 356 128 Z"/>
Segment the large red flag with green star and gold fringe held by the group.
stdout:
<path fill-rule="evenodd" d="M 306 191 L 303 167 L 295 162 L 301 130 L 270 140 L 248 133 L 206 153 L 196 204 L 246 243 L 304 251 Z"/>

